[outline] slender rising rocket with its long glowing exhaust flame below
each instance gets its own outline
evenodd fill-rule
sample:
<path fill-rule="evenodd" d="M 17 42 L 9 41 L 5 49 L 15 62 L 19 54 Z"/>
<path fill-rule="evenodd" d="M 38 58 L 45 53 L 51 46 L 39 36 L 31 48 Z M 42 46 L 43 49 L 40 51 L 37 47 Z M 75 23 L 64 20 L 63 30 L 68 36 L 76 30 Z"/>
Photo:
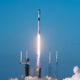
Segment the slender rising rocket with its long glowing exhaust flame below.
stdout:
<path fill-rule="evenodd" d="M 40 36 L 40 9 L 38 9 L 38 33 L 37 33 L 37 75 L 41 78 L 41 66 L 40 66 L 40 49 L 41 49 L 41 36 Z"/>

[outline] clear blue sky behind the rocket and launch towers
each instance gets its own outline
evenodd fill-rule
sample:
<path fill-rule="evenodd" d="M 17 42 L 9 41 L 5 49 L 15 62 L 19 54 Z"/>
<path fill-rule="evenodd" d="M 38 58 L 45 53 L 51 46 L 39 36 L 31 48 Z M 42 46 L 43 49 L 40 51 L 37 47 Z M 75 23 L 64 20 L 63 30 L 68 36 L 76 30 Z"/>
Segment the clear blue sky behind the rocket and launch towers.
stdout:
<path fill-rule="evenodd" d="M 80 66 L 80 0 L 0 0 L 0 80 L 24 74 L 19 52 L 29 50 L 31 69 L 36 61 L 37 10 L 41 9 L 41 64 L 47 75 L 48 52 L 59 53 L 59 77 Z M 25 60 L 25 59 L 24 59 Z M 32 70 L 33 73 L 33 70 Z"/>

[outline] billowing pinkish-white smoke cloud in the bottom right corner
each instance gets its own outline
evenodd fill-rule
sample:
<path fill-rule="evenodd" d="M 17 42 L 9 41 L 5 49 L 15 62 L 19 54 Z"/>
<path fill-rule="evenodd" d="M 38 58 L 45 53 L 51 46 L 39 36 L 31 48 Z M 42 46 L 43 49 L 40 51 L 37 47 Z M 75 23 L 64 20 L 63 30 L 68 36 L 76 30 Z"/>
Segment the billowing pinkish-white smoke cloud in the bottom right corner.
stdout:
<path fill-rule="evenodd" d="M 80 68 L 78 66 L 75 66 L 73 72 L 74 74 L 72 77 L 68 77 L 63 80 L 80 80 Z"/>

